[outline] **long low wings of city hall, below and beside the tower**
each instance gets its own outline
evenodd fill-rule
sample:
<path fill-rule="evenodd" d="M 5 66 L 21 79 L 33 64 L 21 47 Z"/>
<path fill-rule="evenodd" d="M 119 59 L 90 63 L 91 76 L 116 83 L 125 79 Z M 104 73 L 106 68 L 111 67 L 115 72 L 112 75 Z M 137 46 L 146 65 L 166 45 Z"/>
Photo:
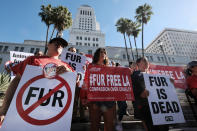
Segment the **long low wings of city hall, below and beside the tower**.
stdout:
<path fill-rule="evenodd" d="M 0 42 L 0 72 L 5 71 L 4 65 L 6 61 L 10 60 L 10 51 L 20 51 L 20 52 L 28 52 L 28 53 L 35 53 L 37 50 L 44 51 L 45 42 L 44 41 L 35 41 L 35 40 L 25 40 L 24 43 L 7 43 L 7 42 Z M 81 45 L 69 45 L 66 47 L 75 47 L 77 52 L 83 52 L 85 54 L 93 55 L 97 48 L 99 47 L 89 47 L 89 46 L 81 46 Z M 125 48 L 123 47 L 113 47 L 113 46 L 106 46 L 105 49 L 107 50 L 107 55 L 110 61 L 118 62 L 122 66 L 128 66 L 127 55 Z M 130 48 L 128 48 L 130 60 L 133 61 L 132 53 Z M 137 59 L 137 55 L 135 50 L 134 53 L 134 60 Z M 141 56 L 141 50 L 138 50 L 139 57 Z M 145 56 L 148 58 L 151 64 L 156 65 L 166 65 L 165 59 L 163 54 L 156 54 L 156 53 L 145 53 Z M 170 66 L 184 66 L 186 65 L 190 59 L 186 56 L 175 56 L 175 55 L 167 55 L 168 62 Z"/>

